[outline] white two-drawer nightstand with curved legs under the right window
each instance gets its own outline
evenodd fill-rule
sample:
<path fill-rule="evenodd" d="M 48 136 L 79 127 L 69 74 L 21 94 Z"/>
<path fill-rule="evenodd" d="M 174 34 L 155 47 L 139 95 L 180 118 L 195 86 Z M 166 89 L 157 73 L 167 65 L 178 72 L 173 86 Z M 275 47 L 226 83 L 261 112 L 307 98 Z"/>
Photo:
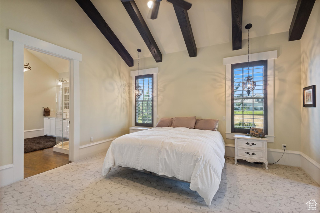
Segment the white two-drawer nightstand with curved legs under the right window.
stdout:
<path fill-rule="evenodd" d="M 268 169 L 267 138 L 255 138 L 245 135 L 234 135 L 235 138 L 235 164 L 237 159 L 248 162 L 264 162 Z"/>

